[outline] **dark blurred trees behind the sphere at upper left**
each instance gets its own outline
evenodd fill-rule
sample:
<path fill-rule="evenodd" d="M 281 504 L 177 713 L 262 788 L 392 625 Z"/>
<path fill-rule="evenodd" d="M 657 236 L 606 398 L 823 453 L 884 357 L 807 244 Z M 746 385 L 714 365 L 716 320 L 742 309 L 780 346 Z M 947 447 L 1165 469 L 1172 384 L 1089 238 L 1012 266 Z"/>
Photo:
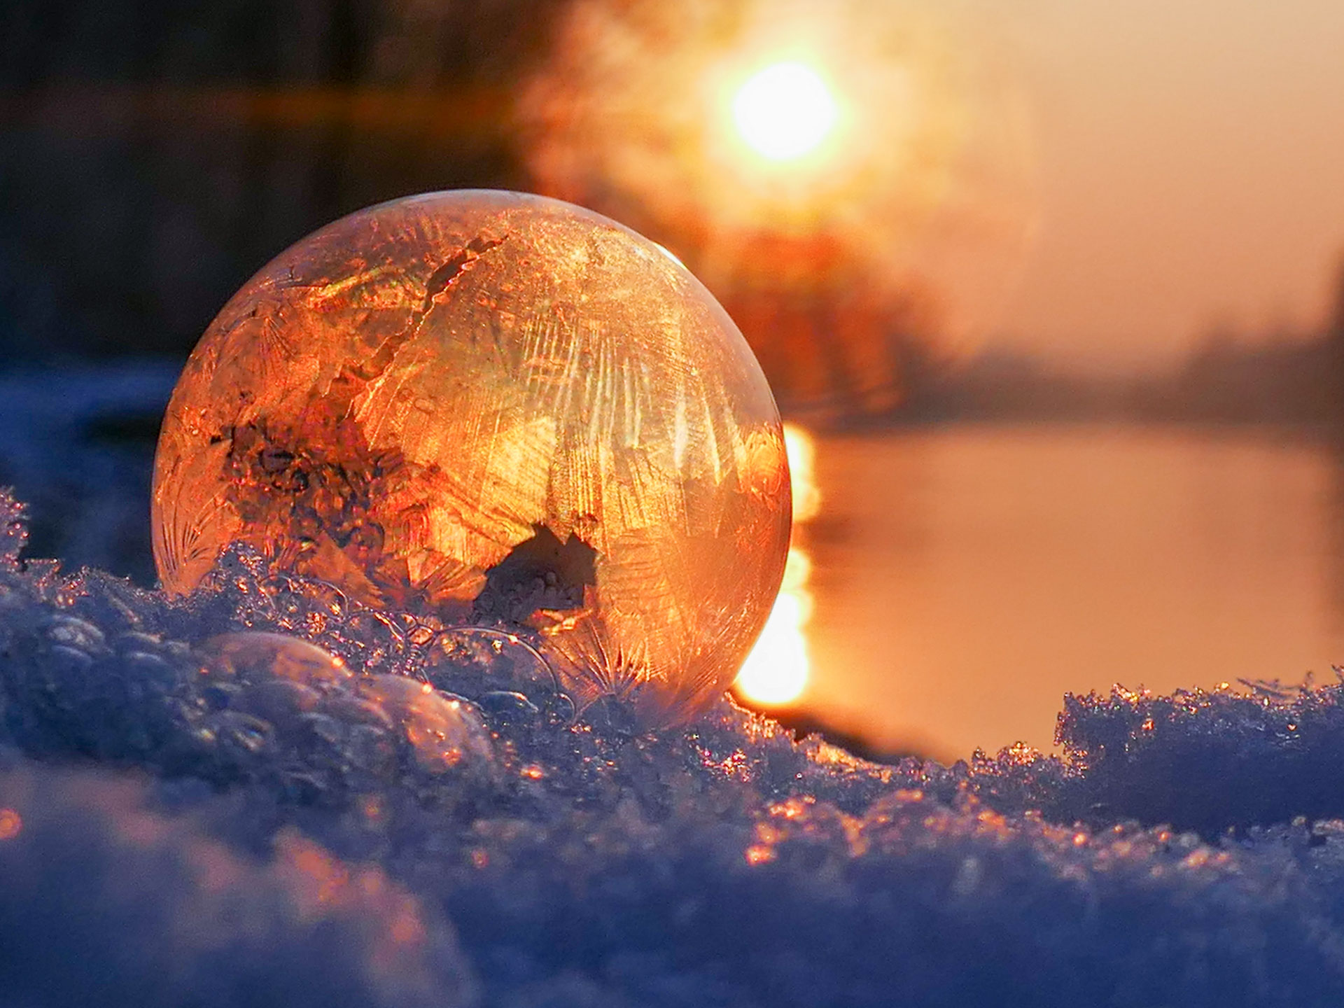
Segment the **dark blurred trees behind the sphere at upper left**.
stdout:
<path fill-rule="evenodd" d="M 521 184 L 511 86 L 562 3 L 0 4 L 0 367 L 183 356 L 314 227 Z"/>

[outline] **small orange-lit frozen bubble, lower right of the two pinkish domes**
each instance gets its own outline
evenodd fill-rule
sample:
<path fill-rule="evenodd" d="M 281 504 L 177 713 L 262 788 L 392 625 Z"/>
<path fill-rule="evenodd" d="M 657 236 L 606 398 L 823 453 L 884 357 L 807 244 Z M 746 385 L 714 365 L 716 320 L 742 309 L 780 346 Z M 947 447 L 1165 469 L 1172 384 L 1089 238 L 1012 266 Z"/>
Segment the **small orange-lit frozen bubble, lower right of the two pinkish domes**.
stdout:
<path fill-rule="evenodd" d="M 406 676 L 364 676 L 359 692 L 402 727 L 422 770 L 441 774 L 493 766 L 491 732 L 468 700 Z"/>

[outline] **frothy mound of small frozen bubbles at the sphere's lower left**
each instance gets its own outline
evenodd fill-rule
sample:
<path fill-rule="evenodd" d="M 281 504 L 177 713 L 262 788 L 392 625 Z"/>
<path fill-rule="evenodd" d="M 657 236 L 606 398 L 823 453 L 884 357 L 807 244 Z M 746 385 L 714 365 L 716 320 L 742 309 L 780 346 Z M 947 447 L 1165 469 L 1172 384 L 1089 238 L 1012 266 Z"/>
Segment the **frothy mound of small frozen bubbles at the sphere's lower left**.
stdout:
<path fill-rule="evenodd" d="M 332 612 L 343 607 L 321 586 L 255 578 L 246 563 L 219 577 L 227 590 L 203 597 L 203 607 L 156 606 L 146 595 L 138 616 L 124 586 L 95 574 L 50 593 L 31 579 L 7 586 L 0 735 L 35 754 L 146 763 L 216 784 L 266 778 L 305 801 L 345 801 L 391 780 L 429 788 L 450 769 L 456 792 L 489 786 L 497 757 L 470 704 L 405 676 L 364 675 L 292 632 L 325 612 L 333 621 L 323 634 L 336 636 L 335 617 L 353 606 Z M 233 602 L 237 612 L 220 618 Z M 249 624 L 266 629 L 242 629 Z M 195 645 L 163 633 L 230 625 Z"/>

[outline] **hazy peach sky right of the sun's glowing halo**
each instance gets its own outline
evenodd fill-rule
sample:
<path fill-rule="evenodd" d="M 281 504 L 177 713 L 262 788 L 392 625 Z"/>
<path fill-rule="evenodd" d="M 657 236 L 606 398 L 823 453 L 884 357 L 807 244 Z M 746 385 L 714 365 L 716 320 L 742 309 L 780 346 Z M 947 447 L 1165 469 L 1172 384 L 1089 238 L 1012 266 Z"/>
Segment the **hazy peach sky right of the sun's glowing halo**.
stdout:
<path fill-rule="evenodd" d="M 1344 255 L 1344 3 L 1042 0 L 1003 13 L 1036 214 L 989 341 L 1168 362 L 1318 325 Z"/>

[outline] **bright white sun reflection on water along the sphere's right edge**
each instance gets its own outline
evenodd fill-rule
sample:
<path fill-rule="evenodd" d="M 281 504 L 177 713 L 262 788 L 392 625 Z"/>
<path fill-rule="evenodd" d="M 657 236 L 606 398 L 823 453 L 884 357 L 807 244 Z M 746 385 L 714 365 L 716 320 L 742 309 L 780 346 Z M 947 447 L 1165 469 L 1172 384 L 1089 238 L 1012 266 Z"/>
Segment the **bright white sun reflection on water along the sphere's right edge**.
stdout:
<path fill-rule="evenodd" d="M 805 628 L 812 618 L 812 558 L 802 546 L 806 523 L 821 508 L 821 492 L 813 477 L 816 442 L 802 427 L 784 425 L 793 489 L 793 536 L 784 583 L 755 648 L 747 656 L 734 689 L 761 707 L 784 707 L 797 700 L 808 685 L 810 659 Z"/>

